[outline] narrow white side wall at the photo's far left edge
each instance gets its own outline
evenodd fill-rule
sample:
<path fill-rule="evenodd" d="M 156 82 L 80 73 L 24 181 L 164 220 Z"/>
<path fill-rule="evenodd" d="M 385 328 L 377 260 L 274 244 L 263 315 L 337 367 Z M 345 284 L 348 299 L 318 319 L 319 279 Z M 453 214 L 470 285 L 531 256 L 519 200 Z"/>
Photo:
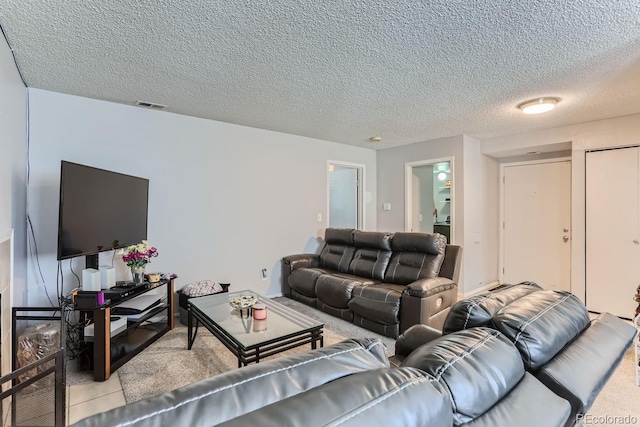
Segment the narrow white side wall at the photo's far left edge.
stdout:
<path fill-rule="evenodd" d="M 15 289 L 23 288 L 27 277 L 26 153 L 27 90 L 7 42 L 0 37 L 0 235 L 13 229 L 14 305 L 24 303 Z"/>

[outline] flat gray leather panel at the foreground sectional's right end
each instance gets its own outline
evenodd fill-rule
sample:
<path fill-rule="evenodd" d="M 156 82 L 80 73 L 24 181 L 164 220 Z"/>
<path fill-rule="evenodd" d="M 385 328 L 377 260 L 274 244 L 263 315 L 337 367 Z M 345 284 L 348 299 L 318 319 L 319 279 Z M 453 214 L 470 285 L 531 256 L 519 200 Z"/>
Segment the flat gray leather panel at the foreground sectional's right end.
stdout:
<path fill-rule="evenodd" d="M 570 346 L 541 367 L 536 376 L 571 403 L 575 419 L 589 410 L 631 346 L 635 333 L 635 328 L 624 320 L 603 313 Z"/>

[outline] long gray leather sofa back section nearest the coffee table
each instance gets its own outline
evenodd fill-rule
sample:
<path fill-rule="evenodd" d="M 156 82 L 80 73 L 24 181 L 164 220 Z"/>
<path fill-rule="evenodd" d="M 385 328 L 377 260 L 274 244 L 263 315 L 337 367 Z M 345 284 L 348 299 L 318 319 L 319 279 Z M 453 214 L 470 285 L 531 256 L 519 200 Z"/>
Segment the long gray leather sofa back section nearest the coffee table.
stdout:
<path fill-rule="evenodd" d="M 85 418 L 76 426 L 211 426 L 338 378 L 388 366 L 381 341 L 350 339 L 215 375 Z"/>

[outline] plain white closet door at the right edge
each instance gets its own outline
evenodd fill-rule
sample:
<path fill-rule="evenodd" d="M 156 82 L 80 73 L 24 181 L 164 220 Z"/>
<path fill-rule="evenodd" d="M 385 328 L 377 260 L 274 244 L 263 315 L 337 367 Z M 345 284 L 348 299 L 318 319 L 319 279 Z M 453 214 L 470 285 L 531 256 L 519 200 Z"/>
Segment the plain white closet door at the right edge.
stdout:
<path fill-rule="evenodd" d="M 640 284 L 640 148 L 586 154 L 586 304 L 632 318 Z"/>

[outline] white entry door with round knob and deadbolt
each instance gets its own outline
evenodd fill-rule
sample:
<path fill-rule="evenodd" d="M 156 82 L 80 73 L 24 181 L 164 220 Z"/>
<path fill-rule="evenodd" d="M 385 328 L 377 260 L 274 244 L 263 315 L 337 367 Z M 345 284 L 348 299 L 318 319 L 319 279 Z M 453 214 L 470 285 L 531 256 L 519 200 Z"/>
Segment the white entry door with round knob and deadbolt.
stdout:
<path fill-rule="evenodd" d="M 571 289 L 571 162 L 503 169 L 502 282 Z"/>

